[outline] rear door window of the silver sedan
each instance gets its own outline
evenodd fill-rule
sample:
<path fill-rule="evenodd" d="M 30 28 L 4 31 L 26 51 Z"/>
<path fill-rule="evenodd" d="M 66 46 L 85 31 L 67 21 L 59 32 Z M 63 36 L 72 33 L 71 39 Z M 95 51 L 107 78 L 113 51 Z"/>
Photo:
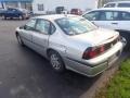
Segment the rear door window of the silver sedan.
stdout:
<path fill-rule="evenodd" d="M 50 32 L 50 22 L 46 20 L 38 20 L 36 24 L 36 30 L 48 35 Z"/>

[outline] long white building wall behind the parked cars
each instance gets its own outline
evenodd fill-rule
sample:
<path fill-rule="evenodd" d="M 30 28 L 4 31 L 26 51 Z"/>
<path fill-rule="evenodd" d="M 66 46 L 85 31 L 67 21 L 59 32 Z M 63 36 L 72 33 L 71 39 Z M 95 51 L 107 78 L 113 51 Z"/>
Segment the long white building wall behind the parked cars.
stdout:
<path fill-rule="evenodd" d="M 98 0 L 34 0 L 32 10 L 35 13 L 55 11 L 56 7 L 65 7 L 68 11 L 74 8 L 86 11 L 98 8 Z"/>

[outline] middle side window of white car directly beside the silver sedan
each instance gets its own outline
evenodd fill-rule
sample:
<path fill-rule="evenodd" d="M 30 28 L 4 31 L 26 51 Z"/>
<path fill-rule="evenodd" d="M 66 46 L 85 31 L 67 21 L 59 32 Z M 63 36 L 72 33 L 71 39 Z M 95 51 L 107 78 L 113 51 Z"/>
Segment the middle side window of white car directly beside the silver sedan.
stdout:
<path fill-rule="evenodd" d="M 100 21 L 118 21 L 119 13 L 113 11 L 104 11 L 100 15 Z"/>

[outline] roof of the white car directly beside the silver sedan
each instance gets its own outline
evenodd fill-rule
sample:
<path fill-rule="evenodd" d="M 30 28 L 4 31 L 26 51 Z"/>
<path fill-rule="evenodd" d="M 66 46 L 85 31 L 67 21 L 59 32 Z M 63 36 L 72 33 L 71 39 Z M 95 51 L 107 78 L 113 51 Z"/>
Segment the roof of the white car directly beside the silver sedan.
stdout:
<path fill-rule="evenodd" d="M 107 10 L 110 10 L 110 11 L 125 11 L 125 12 L 130 12 L 130 8 L 101 8 L 101 9 L 94 9 L 94 10 L 91 10 L 91 11 L 107 11 Z M 91 12 L 89 11 L 89 12 Z"/>

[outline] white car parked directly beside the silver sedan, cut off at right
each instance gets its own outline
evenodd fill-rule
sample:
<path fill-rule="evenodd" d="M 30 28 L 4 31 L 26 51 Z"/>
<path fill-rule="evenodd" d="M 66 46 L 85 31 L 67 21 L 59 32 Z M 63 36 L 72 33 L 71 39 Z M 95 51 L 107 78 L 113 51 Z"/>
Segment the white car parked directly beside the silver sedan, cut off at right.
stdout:
<path fill-rule="evenodd" d="M 130 9 L 103 8 L 89 11 L 82 16 L 98 26 L 118 30 L 127 39 L 126 49 L 130 49 Z"/>

